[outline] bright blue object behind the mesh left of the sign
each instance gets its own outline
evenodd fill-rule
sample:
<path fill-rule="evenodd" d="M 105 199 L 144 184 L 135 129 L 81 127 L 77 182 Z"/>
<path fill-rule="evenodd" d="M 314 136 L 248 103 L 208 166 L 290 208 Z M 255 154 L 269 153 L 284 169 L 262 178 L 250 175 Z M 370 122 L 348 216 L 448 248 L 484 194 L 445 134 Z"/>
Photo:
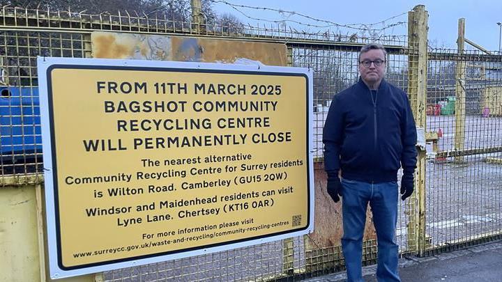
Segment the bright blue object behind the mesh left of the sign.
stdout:
<path fill-rule="evenodd" d="M 33 172 L 22 164 L 42 163 L 38 87 L 0 86 L 0 152 L 3 173 Z"/>

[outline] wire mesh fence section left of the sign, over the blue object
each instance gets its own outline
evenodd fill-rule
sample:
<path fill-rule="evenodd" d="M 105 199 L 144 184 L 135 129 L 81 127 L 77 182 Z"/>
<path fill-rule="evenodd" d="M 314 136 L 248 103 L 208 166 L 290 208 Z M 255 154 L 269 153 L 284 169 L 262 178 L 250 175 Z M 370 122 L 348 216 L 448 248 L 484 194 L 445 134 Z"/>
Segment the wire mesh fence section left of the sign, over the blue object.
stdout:
<path fill-rule="evenodd" d="M 84 35 L 0 31 L 0 173 L 43 173 L 37 56 L 82 57 Z"/>

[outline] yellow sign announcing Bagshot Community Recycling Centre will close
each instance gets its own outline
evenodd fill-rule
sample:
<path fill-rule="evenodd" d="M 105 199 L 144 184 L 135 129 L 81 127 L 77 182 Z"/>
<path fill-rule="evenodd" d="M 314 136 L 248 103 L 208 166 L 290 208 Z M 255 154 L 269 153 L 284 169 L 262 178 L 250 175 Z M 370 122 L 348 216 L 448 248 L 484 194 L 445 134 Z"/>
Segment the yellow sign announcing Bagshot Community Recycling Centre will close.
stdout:
<path fill-rule="evenodd" d="M 59 269 L 312 229 L 305 73 L 82 61 L 45 66 Z"/>

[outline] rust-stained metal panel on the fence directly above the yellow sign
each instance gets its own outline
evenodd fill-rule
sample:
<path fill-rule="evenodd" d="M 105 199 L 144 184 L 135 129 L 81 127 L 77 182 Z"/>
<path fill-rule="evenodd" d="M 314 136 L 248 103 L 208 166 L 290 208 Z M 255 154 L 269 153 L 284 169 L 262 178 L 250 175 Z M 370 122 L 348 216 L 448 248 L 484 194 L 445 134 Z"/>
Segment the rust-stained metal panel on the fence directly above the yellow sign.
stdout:
<path fill-rule="evenodd" d="M 281 43 L 102 31 L 93 32 L 91 41 L 94 58 L 287 65 Z"/>

